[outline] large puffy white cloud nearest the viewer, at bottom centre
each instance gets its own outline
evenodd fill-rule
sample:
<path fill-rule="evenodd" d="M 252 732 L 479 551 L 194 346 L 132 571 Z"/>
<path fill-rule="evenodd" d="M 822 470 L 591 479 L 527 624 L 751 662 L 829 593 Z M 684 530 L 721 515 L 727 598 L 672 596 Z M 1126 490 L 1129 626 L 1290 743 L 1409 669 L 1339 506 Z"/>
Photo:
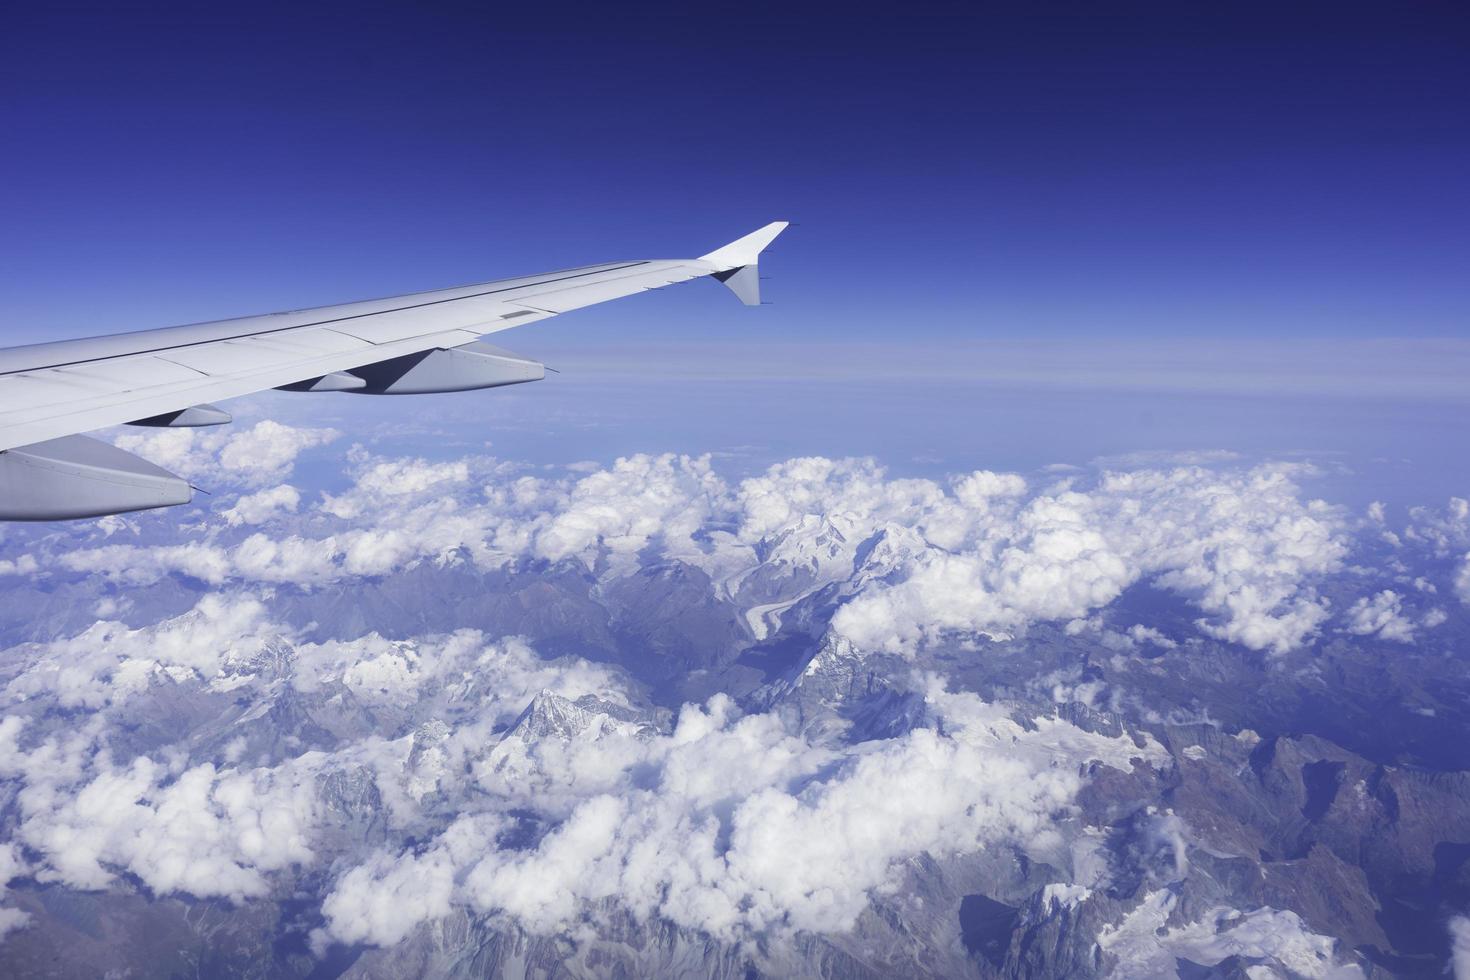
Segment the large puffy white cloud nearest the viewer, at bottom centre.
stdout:
<path fill-rule="evenodd" d="M 492 754 L 479 785 L 507 807 L 564 811 L 556 829 L 513 849 L 463 846 L 469 832 L 451 827 L 425 852 L 360 865 L 328 899 L 319 943 L 395 942 L 403 921 L 376 909 L 397 895 L 423 918 L 442 914 L 451 879 L 453 901 L 541 933 L 585 930 L 610 899 L 725 939 L 842 932 L 920 854 L 1007 843 L 1064 861 L 1057 820 L 1083 763 L 1163 758 L 1157 743 L 1057 720 L 1022 726 L 973 695 L 931 686 L 928 698 L 942 732 L 845 749 L 770 714 L 741 716 L 720 695 L 685 707 L 669 735 L 600 726 L 534 741 L 512 780 L 497 780 Z M 488 840 L 484 824 L 469 836 Z"/>

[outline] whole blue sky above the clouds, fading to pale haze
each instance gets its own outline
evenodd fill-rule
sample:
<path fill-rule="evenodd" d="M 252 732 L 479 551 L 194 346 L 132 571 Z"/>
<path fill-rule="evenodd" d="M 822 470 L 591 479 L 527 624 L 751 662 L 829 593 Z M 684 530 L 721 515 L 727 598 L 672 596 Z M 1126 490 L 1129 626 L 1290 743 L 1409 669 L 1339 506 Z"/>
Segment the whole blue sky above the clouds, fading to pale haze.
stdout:
<path fill-rule="evenodd" d="M 1405 492 L 1438 495 L 1464 476 L 1433 457 L 1464 411 L 1467 46 L 1433 3 L 34 4 L 0 31 L 0 338 L 789 217 L 770 307 L 700 284 L 504 335 L 575 369 L 528 413 L 623 433 L 556 453 L 1413 451 Z"/>

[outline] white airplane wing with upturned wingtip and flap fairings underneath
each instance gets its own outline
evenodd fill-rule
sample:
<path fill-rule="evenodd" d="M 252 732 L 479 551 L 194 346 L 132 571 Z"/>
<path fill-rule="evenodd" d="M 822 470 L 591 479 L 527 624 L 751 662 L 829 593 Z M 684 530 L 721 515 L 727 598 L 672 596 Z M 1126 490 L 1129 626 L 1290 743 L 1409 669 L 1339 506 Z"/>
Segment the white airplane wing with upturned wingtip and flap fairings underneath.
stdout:
<path fill-rule="evenodd" d="M 698 259 L 617 262 L 453 289 L 0 350 L 0 520 L 68 520 L 187 504 L 193 488 L 79 435 L 229 422 L 213 401 L 266 388 L 397 395 L 545 376 L 488 334 L 713 276 L 760 303 L 773 222 Z"/>

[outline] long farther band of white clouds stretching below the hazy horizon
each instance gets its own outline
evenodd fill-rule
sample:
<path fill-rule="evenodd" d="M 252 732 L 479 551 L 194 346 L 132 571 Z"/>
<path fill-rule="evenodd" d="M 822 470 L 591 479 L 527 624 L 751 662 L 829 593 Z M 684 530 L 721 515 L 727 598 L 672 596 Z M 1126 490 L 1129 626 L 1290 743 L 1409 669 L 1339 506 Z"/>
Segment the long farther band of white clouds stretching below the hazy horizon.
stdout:
<path fill-rule="evenodd" d="M 103 545 L 62 563 L 129 583 L 176 570 L 313 588 L 456 555 L 485 567 L 576 560 L 617 576 L 653 552 L 706 569 L 736 601 L 748 591 L 757 633 L 801 595 L 851 577 L 833 627 L 860 649 L 892 652 L 950 632 L 1085 617 L 1152 582 L 1195 602 L 1204 633 L 1282 652 L 1326 620 L 1314 580 L 1348 552 L 1344 513 L 1304 500 L 1297 480 L 1310 470 L 1285 464 L 1104 473 L 1028 495 L 1014 475 L 978 472 L 945 486 L 814 457 L 736 486 L 707 457 L 672 454 L 566 479 L 466 461 L 357 463 L 354 486 L 318 511 L 340 522 L 331 533 L 266 526 L 237 541 Z M 285 491 L 265 494 L 226 520 L 290 510 Z M 876 535 L 888 544 L 858 567 Z"/>

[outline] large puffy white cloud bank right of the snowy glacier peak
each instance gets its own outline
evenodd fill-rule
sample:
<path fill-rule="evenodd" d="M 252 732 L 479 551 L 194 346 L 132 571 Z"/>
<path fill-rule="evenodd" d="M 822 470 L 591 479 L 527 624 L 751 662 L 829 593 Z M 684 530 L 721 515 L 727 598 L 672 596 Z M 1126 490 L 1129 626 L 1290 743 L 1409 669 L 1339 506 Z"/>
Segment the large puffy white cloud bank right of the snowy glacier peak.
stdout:
<path fill-rule="evenodd" d="M 1282 652 L 1326 619 L 1310 579 L 1348 551 L 1341 514 L 1299 500 L 1298 472 L 1107 473 L 1089 489 L 1039 494 L 982 525 L 970 547 L 929 550 L 904 580 L 858 595 L 832 626 L 858 648 L 911 652 L 944 632 L 1083 617 L 1152 580 L 1195 601 L 1205 633 Z"/>

